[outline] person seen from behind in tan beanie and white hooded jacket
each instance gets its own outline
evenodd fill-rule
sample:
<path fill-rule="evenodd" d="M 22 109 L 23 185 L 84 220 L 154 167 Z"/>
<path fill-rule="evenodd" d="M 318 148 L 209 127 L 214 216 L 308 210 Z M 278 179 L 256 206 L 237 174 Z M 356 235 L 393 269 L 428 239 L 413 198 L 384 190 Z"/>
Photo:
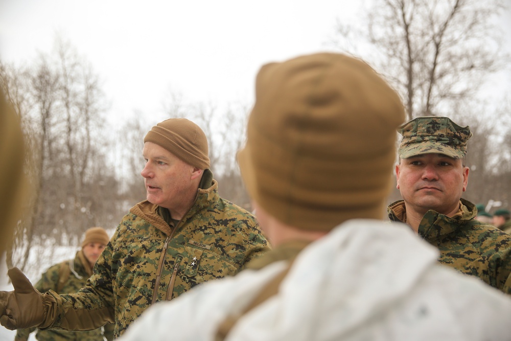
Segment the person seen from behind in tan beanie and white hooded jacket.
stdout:
<path fill-rule="evenodd" d="M 149 308 L 120 341 L 509 339 L 511 298 L 382 220 L 401 100 L 364 62 L 264 65 L 238 162 L 274 249 Z"/>

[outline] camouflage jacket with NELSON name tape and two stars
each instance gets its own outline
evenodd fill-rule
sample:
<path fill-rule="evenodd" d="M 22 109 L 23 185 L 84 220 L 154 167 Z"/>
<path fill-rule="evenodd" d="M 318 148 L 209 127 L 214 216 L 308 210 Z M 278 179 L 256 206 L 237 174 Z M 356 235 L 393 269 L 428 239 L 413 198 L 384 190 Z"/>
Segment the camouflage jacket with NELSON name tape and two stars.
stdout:
<path fill-rule="evenodd" d="M 268 251 L 255 218 L 220 198 L 216 181 L 209 182 L 175 226 L 147 200 L 131 208 L 87 285 L 75 294 L 43 299 L 49 313 L 40 328 L 85 330 L 106 320 L 115 322 L 118 337 L 152 303 L 235 275 Z"/>

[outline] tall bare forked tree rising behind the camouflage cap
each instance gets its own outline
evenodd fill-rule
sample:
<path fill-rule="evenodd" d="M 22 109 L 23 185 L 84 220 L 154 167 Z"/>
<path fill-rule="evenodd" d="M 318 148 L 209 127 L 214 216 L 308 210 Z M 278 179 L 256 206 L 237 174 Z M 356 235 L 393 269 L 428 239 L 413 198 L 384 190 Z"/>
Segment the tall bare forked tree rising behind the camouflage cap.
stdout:
<path fill-rule="evenodd" d="M 508 64 L 494 24 L 501 0 L 374 0 L 367 26 L 338 32 L 369 43 L 362 52 L 403 98 L 409 118 L 438 116 L 474 98 Z"/>

